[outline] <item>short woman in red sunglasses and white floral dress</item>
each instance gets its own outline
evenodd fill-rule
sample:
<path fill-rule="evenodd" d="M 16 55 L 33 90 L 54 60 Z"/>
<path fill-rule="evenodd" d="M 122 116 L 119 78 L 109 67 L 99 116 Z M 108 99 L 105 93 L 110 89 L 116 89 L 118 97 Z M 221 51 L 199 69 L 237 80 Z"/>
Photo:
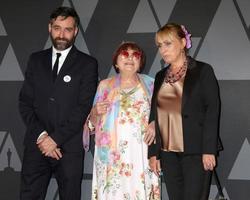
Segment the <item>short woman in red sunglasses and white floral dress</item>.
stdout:
<path fill-rule="evenodd" d="M 144 61 L 137 44 L 122 43 L 113 55 L 117 75 L 98 86 L 86 122 L 95 132 L 92 199 L 160 198 L 147 159 L 154 139 L 154 126 L 148 125 L 153 79 L 138 73 Z"/>

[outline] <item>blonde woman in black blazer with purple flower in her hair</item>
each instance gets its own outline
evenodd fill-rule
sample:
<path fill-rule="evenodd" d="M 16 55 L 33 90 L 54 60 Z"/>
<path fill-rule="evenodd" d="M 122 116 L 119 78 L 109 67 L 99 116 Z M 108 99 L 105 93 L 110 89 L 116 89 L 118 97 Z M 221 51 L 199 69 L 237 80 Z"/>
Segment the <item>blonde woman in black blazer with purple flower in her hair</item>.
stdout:
<path fill-rule="evenodd" d="M 187 56 L 191 40 L 184 26 L 166 24 L 155 41 L 168 66 L 155 77 L 150 167 L 158 174 L 161 163 L 170 200 L 200 200 L 205 177 L 216 166 L 218 83 L 209 64 Z"/>

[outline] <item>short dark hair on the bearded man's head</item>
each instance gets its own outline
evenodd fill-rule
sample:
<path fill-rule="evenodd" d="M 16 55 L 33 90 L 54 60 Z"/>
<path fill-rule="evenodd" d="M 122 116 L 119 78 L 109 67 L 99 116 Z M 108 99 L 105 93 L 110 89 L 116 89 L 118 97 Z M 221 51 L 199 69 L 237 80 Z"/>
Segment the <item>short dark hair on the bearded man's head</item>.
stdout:
<path fill-rule="evenodd" d="M 75 19 L 76 26 L 80 23 L 80 18 L 74 8 L 70 7 L 59 7 L 56 8 L 50 15 L 50 23 L 56 20 L 57 17 L 62 16 L 64 19 L 73 17 Z"/>

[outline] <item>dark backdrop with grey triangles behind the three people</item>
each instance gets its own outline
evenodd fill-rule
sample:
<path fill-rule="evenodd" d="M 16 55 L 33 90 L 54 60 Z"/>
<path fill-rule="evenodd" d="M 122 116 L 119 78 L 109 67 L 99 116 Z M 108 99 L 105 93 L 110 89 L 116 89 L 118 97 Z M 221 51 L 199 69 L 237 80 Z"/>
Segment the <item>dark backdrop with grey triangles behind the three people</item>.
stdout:
<path fill-rule="evenodd" d="M 0 1 L 0 199 L 17 200 L 25 127 L 18 93 L 33 51 L 50 47 L 48 16 L 58 6 L 74 7 L 80 18 L 76 46 L 96 57 L 100 79 L 113 75 L 111 58 L 122 41 L 146 52 L 144 73 L 154 77 L 162 62 L 154 34 L 166 22 L 192 33 L 190 55 L 210 63 L 219 80 L 224 151 L 217 172 L 228 199 L 250 196 L 250 1 L 249 0 L 1 0 Z M 83 199 L 90 199 L 92 153 L 85 157 Z M 163 199 L 168 199 L 163 183 Z M 210 198 L 217 196 L 212 185 Z M 58 200 L 52 179 L 46 200 Z"/>

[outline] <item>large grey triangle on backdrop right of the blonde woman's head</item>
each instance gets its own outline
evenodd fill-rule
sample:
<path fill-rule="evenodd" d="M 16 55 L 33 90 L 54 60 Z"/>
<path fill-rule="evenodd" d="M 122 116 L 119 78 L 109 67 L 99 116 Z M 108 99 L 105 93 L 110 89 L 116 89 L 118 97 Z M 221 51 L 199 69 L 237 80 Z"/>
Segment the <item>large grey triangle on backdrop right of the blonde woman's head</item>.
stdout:
<path fill-rule="evenodd" d="M 245 21 L 241 17 L 243 15 L 239 8 L 235 7 L 234 2 L 221 1 L 197 58 L 210 63 L 220 80 L 249 80 L 249 28 L 244 28 Z M 247 20 L 250 13 L 244 12 L 244 16 Z"/>

